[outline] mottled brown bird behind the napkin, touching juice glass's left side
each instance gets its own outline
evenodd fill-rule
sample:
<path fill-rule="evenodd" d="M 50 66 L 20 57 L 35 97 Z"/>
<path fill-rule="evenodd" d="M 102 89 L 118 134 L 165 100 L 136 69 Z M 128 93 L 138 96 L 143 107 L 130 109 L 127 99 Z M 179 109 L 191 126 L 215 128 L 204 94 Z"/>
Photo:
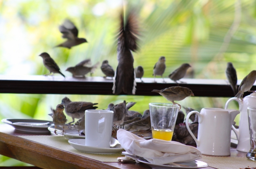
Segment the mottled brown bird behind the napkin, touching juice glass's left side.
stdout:
<path fill-rule="evenodd" d="M 142 120 L 139 120 L 139 121 L 125 124 L 124 129 L 127 131 L 130 131 L 130 132 L 135 132 L 135 131 L 140 131 L 140 130 L 149 130 L 149 129 L 151 129 L 150 116 L 148 116 Z"/>

